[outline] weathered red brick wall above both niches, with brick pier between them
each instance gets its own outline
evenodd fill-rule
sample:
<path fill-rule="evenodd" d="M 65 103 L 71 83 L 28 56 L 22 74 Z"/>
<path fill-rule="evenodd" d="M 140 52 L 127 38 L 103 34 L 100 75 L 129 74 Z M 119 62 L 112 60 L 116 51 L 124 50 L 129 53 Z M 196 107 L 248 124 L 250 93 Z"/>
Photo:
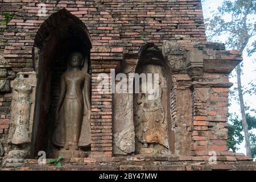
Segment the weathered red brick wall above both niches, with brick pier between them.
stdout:
<path fill-rule="evenodd" d="M 46 3 L 46 16 L 37 15 L 39 3 Z M 6 45 L 5 57 L 14 72 L 34 70 L 32 64 L 34 40 L 38 40 L 36 44 L 40 44 L 43 43 L 40 40 L 44 40 L 43 37 L 46 36 L 45 32 L 38 29 L 49 15 L 63 8 L 85 23 L 92 38 L 93 49 L 90 57 L 93 68 L 92 82 L 96 82 L 94 78 L 98 73 L 108 72 L 110 68 L 118 65 L 123 59 L 123 53 L 138 52 L 144 42 L 160 45 L 163 39 L 185 43 L 192 40 L 205 40 L 200 1 L 3 0 L 1 12 L 15 13 L 2 39 L 2 43 Z M 47 26 L 51 30 L 55 24 L 54 22 L 44 23 L 43 30 L 47 29 Z M 144 41 L 141 36 L 145 39 Z M 101 137 L 102 142 L 112 138 L 110 132 L 112 127 L 110 123 L 108 124 L 112 118 L 112 111 L 109 110 L 111 102 L 111 95 L 101 96 L 92 92 L 92 133 L 95 139 Z M 9 114 L 9 111 L 4 113 Z M 101 121 L 104 126 L 93 126 L 93 121 Z M 99 151 L 112 151 L 111 144 L 93 144 L 92 146 L 94 145 Z"/>

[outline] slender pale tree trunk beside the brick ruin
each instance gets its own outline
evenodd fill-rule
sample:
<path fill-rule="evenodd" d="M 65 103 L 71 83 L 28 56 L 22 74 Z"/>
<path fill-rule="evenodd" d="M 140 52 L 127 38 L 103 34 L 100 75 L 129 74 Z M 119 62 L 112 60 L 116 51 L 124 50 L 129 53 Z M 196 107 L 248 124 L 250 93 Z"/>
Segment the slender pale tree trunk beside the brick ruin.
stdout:
<path fill-rule="evenodd" d="M 250 138 L 248 134 L 246 115 L 245 115 L 245 104 L 243 103 L 243 93 L 242 93 L 242 84 L 241 84 L 241 67 L 239 64 L 237 65 L 237 89 L 238 89 L 238 96 L 239 96 L 240 108 L 241 108 L 241 114 L 242 114 L 243 131 L 245 133 L 246 155 L 251 157 L 251 144 L 250 144 Z"/>

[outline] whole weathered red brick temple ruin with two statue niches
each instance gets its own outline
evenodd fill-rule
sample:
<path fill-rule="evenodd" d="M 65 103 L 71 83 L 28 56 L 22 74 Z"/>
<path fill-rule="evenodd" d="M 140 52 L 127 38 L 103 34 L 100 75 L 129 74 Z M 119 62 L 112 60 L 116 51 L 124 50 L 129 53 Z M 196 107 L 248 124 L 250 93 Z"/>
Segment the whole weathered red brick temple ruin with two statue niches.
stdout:
<path fill-rule="evenodd" d="M 14 17 L 0 26 L 0 169 L 256 170 L 227 148 L 229 74 L 242 52 L 207 42 L 200 0 L 0 0 L 3 12 Z M 73 52 L 84 60 L 69 76 Z M 98 92 L 113 69 L 159 73 L 161 97 Z M 61 93 L 78 77 L 84 100 Z M 64 155 L 63 167 L 38 164 L 40 151 Z"/>

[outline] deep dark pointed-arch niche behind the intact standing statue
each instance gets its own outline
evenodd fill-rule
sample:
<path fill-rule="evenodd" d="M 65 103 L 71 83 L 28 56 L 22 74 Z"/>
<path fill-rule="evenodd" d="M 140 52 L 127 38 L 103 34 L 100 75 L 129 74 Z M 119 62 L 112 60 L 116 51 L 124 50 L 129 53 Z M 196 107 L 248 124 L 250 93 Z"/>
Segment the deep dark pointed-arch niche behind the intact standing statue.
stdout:
<path fill-rule="evenodd" d="M 31 157 L 38 151 L 51 156 L 55 147 L 51 139 L 55 129 L 56 105 L 59 101 L 60 77 L 69 67 L 69 55 L 81 52 L 88 59 L 92 44 L 85 24 L 65 9 L 49 16 L 39 28 L 34 45 L 34 68 L 38 77 Z M 85 70 L 88 72 L 88 70 Z"/>

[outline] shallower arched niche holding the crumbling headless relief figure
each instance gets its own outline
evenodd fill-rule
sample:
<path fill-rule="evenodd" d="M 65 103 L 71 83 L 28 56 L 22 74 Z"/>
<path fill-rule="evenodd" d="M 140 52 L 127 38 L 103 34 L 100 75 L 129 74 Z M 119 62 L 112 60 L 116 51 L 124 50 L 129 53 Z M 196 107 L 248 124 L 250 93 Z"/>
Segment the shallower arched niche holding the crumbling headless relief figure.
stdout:
<path fill-rule="evenodd" d="M 171 69 L 158 47 L 148 44 L 142 47 L 135 73 L 140 76 L 144 74 L 147 81 L 148 74 L 152 75 L 152 81 L 155 73 L 159 76 L 158 96 L 150 97 L 148 92 L 142 93 L 141 77 L 139 93 L 134 90 L 135 154 L 174 154 L 175 139 L 170 114 Z M 136 79 L 135 77 L 135 89 Z"/>

